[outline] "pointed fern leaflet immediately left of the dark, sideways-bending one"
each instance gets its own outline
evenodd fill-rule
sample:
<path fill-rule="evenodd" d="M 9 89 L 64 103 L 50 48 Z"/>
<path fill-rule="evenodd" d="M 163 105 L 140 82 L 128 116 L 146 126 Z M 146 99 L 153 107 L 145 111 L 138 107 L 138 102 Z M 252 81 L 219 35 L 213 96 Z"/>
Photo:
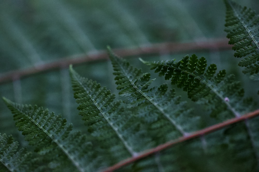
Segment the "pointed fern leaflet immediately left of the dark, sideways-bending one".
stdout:
<path fill-rule="evenodd" d="M 144 117 L 147 123 L 152 123 L 151 129 L 159 129 L 163 125 L 164 130 L 172 134 L 169 134 L 171 138 L 175 137 L 177 132 L 188 135 L 192 130 L 190 128 L 192 122 L 197 121 L 190 120 L 190 123 L 181 121 L 183 120 L 181 115 L 184 116 L 190 111 L 186 109 L 184 102 L 179 103 L 179 97 L 175 96 L 174 90 L 168 92 L 166 84 L 148 89 L 154 81 L 150 80 L 150 73 L 142 74 L 141 69 L 132 67 L 127 61 L 113 54 L 109 47 L 108 53 L 114 69 L 113 74 L 116 75 L 117 89 L 121 90 L 119 94 L 127 99 L 124 102 L 135 108 L 138 116 Z M 186 116 L 185 120 L 187 119 Z M 189 124 L 184 125 L 186 123 Z M 157 133 L 160 134 L 162 133 Z"/>

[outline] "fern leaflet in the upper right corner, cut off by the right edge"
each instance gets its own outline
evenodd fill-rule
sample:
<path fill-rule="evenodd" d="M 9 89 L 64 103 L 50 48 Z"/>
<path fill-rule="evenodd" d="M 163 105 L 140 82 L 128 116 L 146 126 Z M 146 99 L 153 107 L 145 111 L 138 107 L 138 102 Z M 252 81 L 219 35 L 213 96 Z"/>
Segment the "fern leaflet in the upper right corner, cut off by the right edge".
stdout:
<path fill-rule="evenodd" d="M 253 75 L 259 80 L 259 16 L 247 7 L 241 7 L 235 2 L 225 0 L 227 38 L 235 57 L 248 57 L 239 62 L 239 66 L 246 67 L 243 73 Z"/>

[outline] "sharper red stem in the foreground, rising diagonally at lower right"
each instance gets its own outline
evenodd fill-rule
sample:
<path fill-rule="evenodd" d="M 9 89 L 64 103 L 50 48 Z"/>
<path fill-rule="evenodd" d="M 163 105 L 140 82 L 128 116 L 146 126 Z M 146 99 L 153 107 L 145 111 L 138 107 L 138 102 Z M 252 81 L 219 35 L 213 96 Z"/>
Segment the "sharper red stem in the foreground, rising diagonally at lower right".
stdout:
<path fill-rule="evenodd" d="M 119 168 L 121 168 L 123 166 L 126 166 L 126 165 L 128 165 L 130 163 L 133 163 L 133 162 L 137 161 L 137 160 L 145 158 L 145 157 L 147 157 L 149 155 L 155 154 L 155 153 L 160 152 L 160 151 L 162 151 L 164 149 L 168 149 L 168 148 L 170 148 L 173 145 L 176 145 L 178 143 L 184 142 L 186 140 L 190 140 L 190 139 L 194 139 L 194 138 L 198 138 L 198 137 L 204 136 L 206 134 L 209 134 L 209 133 L 212 133 L 214 131 L 220 130 L 220 129 L 224 128 L 224 127 L 227 127 L 227 126 L 229 126 L 231 124 L 238 123 L 240 121 L 244 121 L 244 120 L 247 120 L 247 119 L 250 119 L 250 118 L 254 118 L 254 117 L 258 116 L 258 115 L 259 115 L 259 109 L 257 109 L 254 112 L 247 113 L 247 114 L 245 114 L 245 115 L 243 115 L 241 117 L 235 117 L 235 118 L 226 120 L 226 121 L 224 121 L 222 123 L 218 123 L 218 124 L 212 125 L 210 127 L 204 128 L 202 130 L 198 130 L 196 132 L 191 133 L 188 136 L 183 136 L 183 137 L 179 137 L 178 139 L 168 141 L 165 144 L 162 144 L 162 145 L 159 145 L 159 146 L 157 146 L 155 148 L 148 149 L 148 150 L 146 150 L 144 152 L 141 152 L 141 153 L 139 153 L 138 156 L 122 160 L 119 163 L 113 165 L 112 167 L 104 169 L 103 172 L 109 172 L 109 171 L 113 171 L 113 170 L 119 169 Z"/>

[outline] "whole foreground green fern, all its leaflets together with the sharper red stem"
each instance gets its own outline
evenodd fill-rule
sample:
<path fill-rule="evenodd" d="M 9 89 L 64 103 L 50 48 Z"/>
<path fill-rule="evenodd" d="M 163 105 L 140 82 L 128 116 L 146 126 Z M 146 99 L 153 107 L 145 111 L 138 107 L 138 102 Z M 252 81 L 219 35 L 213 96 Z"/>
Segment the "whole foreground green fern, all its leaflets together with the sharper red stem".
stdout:
<path fill-rule="evenodd" d="M 225 3 L 229 43 L 235 44 L 235 56 L 252 54 L 240 64 L 258 80 L 258 16 Z M 3 98 L 34 152 L 17 152 L 18 143 L 1 134 L 0 171 L 258 171 L 259 110 L 252 99 L 244 98 L 234 75 L 216 72 L 215 64 L 207 67 L 206 59 L 195 54 L 178 62 L 140 59 L 201 104 L 216 121 L 209 126 L 174 89 L 168 90 L 168 84 L 152 87 L 150 73 L 134 68 L 109 47 L 108 53 L 119 100 L 69 68 L 89 134 L 74 132 L 66 119 L 47 109 Z"/>

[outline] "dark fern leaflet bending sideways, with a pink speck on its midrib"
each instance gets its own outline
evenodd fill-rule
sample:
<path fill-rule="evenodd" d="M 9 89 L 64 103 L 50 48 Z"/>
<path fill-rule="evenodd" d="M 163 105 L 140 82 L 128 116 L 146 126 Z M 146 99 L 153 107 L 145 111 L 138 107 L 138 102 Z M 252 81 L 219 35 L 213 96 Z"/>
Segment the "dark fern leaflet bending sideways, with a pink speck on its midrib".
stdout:
<path fill-rule="evenodd" d="M 171 79 L 173 85 L 183 88 L 188 92 L 188 97 L 193 101 L 207 104 L 211 110 L 211 116 L 225 120 L 231 118 L 229 114 L 236 117 L 247 110 L 247 105 L 242 105 L 243 89 L 240 82 L 235 81 L 234 75 L 226 76 L 226 71 L 221 70 L 216 74 L 217 66 L 211 64 L 207 66 L 204 57 L 198 59 L 193 54 L 191 57 L 185 56 L 182 60 L 167 60 L 160 62 L 147 62 L 140 59 L 143 63 L 155 69 L 160 76 L 165 76 L 166 80 Z M 230 113 L 225 112 L 228 109 Z M 219 117 L 219 115 L 225 117 Z"/>

